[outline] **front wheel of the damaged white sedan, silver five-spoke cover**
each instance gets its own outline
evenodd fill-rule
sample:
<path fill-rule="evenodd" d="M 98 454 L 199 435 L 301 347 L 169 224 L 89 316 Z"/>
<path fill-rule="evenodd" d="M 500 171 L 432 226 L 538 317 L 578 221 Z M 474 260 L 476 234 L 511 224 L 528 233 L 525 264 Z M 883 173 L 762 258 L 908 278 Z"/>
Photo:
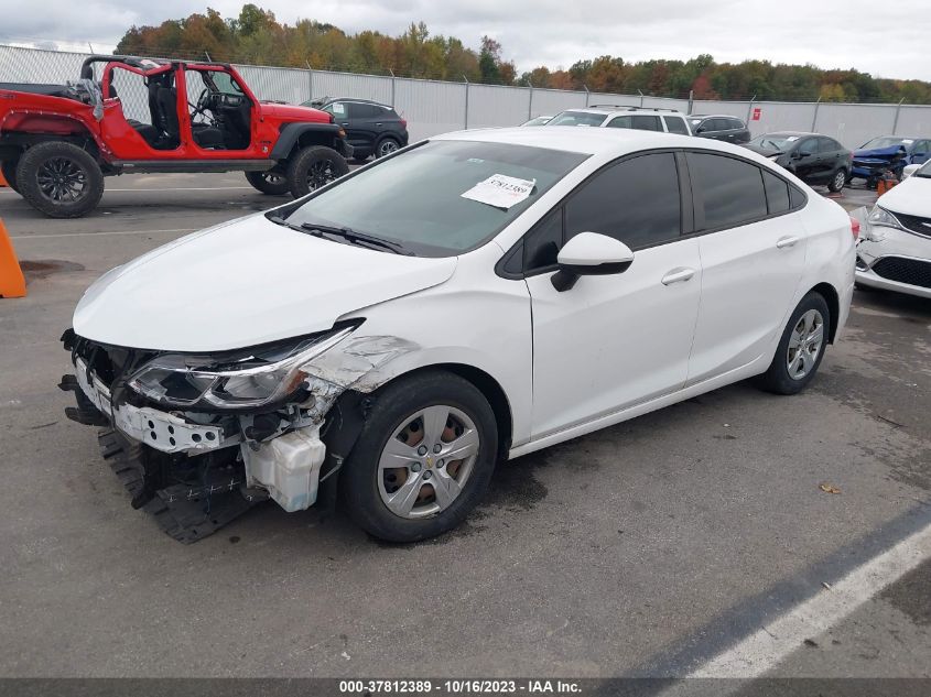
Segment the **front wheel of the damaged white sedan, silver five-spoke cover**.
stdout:
<path fill-rule="evenodd" d="M 485 395 L 453 373 L 401 378 L 378 395 L 339 491 L 365 531 L 414 542 L 452 530 L 495 470 L 498 428 Z"/>

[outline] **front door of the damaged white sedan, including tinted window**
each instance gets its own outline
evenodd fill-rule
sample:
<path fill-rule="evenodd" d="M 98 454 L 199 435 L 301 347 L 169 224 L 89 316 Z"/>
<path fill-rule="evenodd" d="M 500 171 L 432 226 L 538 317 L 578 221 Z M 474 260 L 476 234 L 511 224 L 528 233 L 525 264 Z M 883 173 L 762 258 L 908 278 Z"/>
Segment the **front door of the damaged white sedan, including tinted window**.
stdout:
<path fill-rule="evenodd" d="M 681 237 L 691 225 L 683 198 L 672 152 L 631 156 L 593 175 L 527 236 L 534 438 L 683 385 L 701 284 L 697 240 Z M 556 253 L 583 231 L 624 241 L 634 262 L 559 292 Z"/>

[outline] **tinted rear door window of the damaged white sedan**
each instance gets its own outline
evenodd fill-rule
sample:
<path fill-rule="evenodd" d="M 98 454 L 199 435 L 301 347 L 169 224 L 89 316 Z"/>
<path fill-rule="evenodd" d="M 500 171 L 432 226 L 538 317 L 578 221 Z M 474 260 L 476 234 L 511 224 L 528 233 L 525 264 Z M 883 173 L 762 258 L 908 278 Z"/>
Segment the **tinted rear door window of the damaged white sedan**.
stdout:
<path fill-rule="evenodd" d="M 702 230 L 735 228 L 768 215 L 760 168 L 734 157 L 690 152 L 689 173 L 704 206 Z M 696 214 L 701 213 L 696 210 Z"/>

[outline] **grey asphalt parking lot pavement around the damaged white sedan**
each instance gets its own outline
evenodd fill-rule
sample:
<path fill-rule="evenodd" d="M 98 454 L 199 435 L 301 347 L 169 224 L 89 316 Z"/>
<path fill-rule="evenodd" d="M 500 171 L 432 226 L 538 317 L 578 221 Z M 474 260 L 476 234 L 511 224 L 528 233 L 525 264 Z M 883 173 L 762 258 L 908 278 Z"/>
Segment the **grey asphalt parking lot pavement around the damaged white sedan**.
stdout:
<path fill-rule="evenodd" d="M 931 525 L 931 304 L 857 291 L 804 393 L 739 383 L 502 464 L 435 541 L 273 504 L 172 541 L 64 417 L 58 337 L 106 270 L 284 200 L 132 175 L 50 220 L 0 189 L 29 281 L 0 300 L 0 676 L 685 675 Z M 909 574 L 770 674 L 929 677 Z"/>

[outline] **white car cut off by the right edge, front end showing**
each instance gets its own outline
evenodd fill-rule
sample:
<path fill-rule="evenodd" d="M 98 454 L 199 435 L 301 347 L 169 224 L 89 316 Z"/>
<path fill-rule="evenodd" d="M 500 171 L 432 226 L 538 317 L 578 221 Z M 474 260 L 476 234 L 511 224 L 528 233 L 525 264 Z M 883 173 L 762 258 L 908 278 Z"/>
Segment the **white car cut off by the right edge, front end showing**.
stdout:
<path fill-rule="evenodd" d="M 857 244 L 856 280 L 931 297 L 931 161 L 877 199 Z"/>

